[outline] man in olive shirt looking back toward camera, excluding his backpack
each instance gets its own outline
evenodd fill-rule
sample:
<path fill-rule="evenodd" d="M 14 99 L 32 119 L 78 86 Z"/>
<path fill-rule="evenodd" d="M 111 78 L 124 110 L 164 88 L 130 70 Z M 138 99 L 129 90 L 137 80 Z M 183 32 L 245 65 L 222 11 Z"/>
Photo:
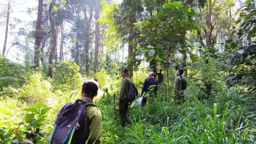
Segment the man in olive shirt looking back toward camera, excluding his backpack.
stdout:
<path fill-rule="evenodd" d="M 130 120 L 127 116 L 127 111 L 128 111 L 128 105 L 129 101 L 126 98 L 126 93 L 128 92 L 128 87 L 129 87 L 129 82 L 128 79 L 126 78 L 128 74 L 127 68 L 122 68 L 121 69 L 121 77 L 122 77 L 122 82 L 120 84 L 120 89 L 119 89 L 119 94 L 118 94 L 118 99 L 116 100 L 116 104 L 119 105 L 119 115 L 121 118 L 121 126 L 125 126 L 126 122 L 130 124 Z"/>

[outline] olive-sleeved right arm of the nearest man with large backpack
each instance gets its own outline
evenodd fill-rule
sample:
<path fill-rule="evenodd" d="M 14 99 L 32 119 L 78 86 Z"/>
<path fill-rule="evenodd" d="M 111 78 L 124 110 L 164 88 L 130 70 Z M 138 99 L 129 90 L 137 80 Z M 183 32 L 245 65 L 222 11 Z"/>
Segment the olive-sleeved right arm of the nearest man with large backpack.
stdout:
<path fill-rule="evenodd" d="M 101 134 L 102 134 L 102 127 L 101 127 L 101 122 L 102 122 L 102 115 L 100 112 L 100 109 L 96 108 L 91 114 L 91 124 L 89 126 L 89 136 L 90 138 L 88 139 L 88 144 L 102 144 L 101 141 Z"/>

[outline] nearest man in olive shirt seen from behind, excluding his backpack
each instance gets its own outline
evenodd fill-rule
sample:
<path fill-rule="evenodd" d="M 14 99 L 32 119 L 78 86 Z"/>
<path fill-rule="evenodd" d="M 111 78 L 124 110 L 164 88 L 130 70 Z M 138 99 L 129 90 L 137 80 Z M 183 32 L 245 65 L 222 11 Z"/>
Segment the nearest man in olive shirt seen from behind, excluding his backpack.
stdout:
<path fill-rule="evenodd" d="M 98 95 L 98 89 L 99 89 L 99 84 L 96 81 L 86 80 L 84 82 L 84 84 L 82 85 L 82 93 L 81 93 L 82 98 L 80 98 L 80 100 L 82 100 L 83 102 L 80 102 L 80 103 L 93 102 L 92 101 L 93 98 Z M 56 122 L 57 118 L 64 112 L 65 108 L 67 106 L 69 106 L 70 104 L 74 104 L 74 102 L 69 102 L 68 104 L 65 104 L 60 109 L 60 111 L 58 112 L 58 115 L 55 119 L 55 122 Z M 102 115 L 101 115 L 100 109 L 95 105 L 86 106 L 86 116 L 84 118 L 84 123 L 85 123 L 86 137 L 90 137 L 87 140 L 88 144 L 102 144 L 101 122 L 102 122 Z"/>

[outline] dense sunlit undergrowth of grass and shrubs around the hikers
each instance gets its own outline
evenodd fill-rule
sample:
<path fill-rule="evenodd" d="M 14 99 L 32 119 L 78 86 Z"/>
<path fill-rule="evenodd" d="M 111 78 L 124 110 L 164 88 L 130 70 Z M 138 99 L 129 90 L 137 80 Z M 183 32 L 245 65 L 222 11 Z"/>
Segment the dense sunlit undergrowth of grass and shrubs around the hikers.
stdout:
<path fill-rule="evenodd" d="M 40 71 L 31 71 L 23 84 L 16 81 L 14 85 L 1 85 L 0 143 L 20 141 L 22 144 L 24 140 L 47 143 L 58 111 L 67 102 L 80 98 L 80 86 L 89 78 L 98 79 L 101 86 L 94 102 L 102 111 L 104 144 L 256 143 L 255 95 L 239 86 L 228 87 L 224 80 L 226 72 L 219 70 L 218 61 L 209 59 L 208 64 L 202 61 L 189 63 L 184 104 L 172 98 L 175 69 L 171 68 L 169 106 L 167 85 L 159 85 L 158 96 L 150 99 L 146 106 L 129 108 L 132 124 L 125 128 L 120 126 L 118 106 L 114 110 L 113 94 L 118 94 L 120 84 L 118 75 L 108 75 L 102 69 L 82 76 L 73 62 L 58 64 L 53 80 Z M 147 71 L 149 69 L 141 68 L 134 72 L 132 81 L 139 92 Z M 1 76 L 6 74 L 2 73 Z M 11 81 L 2 81 L 6 83 Z"/>

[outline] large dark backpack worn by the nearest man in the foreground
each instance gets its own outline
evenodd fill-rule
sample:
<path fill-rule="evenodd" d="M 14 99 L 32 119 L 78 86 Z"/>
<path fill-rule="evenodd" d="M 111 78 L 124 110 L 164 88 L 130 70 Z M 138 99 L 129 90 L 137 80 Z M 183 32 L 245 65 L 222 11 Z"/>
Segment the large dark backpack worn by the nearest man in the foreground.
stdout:
<path fill-rule="evenodd" d="M 85 144 L 88 136 L 85 134 L 84 117 L 86 107 L 94 105 L 92 102 L 76 100 L 66 108 L 56 119 L 50 144 Z M 96 105 L 94 105 L 96 106 Z M 71 142 L 71 143 L 69 143 Z"/>

